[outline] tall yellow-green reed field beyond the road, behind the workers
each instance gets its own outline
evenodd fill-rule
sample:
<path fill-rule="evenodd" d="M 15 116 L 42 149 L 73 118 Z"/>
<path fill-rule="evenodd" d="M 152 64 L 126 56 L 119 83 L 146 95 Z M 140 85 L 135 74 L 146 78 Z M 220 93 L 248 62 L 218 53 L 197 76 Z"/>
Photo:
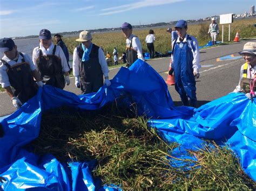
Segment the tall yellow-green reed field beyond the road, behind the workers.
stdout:
<path fill-rule="evenodd" d="M 187 33 L 191 34 L 192 36 L 198 39 L 199 46 L 203 46 L 207 44 L 209 40 L 211 40 L 210 35 L 207 34 L 210 23 L 211 21 L 204 22 L 201 24 L 188 23 Z M 256 37 L 256 28 L 254 27 L 254 24 L 255 19 L 234 19 L 234 22 L 231 24 L 231 42 L 234 40 L 235 34 L 237 32 L 239 32 L 240 34 L 240 39 Z M 149 29 L 150 28 L 142 30 L 133 30 L 133 34 L 138 36 L 140 42 L 142 43 L 143 52 L 148 52 L 145 39 L 147 34 L 149 34 Z M 171 51 L 171 36 L 170 33 L 166 32 L 166 29 L 167 26 L 163 28 L 153 29 L 156 36 L 154 49 L 155 51 L 161 52 L 163 54 Z M 222 25 L 219 25 L 219 29 L 220 34 L 218 36 L 217 41 L 221 41 Z M 93 33 L 92 37 L 93 43 L 98 46 L 102 46 L 104 48 L 105 53 L 110 52 L 112 54 L 114 47 L 117 48 L 119 55 L 125 51 L 125 37 L 122 33 L 122 30 L 113 32 Z M 64 42 L 68 46 L 69 52 L 71 54 L 73 54 L 74 48 L 79 44 L 77 41 L 75 41 L 77 38 L 79 38 L 79 34 L 77 34 L 77 37 L 64 38 Z M 228 43 L 228 24 L 224 25 L 224 42 Z"/>

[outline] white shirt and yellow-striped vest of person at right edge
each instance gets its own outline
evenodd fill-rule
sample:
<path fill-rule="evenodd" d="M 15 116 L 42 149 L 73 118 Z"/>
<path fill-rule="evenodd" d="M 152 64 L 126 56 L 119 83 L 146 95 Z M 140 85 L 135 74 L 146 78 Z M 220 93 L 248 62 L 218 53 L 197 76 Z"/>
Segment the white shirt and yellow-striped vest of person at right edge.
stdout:
<path fill-rule="evenodd" d="M 256 66 L 251 67 L 250 64 L 244 63 L 240 70 L 240 79 L 238 86 L 234 92 L 250 93 L 250 83 L 256 77 Z M 253 91 L 256 91 L 256 83 L 254 83 Z"/>

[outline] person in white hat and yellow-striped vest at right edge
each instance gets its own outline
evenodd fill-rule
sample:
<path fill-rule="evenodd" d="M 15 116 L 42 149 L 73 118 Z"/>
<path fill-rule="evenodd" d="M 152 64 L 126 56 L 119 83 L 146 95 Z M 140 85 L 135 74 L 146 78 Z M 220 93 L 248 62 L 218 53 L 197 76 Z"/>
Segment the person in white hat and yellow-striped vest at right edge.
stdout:
<path fill-rule="evenodd" d="M 246 97 L 253 99 L 256 94 L 256 42 L 246 43 L 239 54 L 246 62 L 241 66 L 239 84 L 234 92 L 244 92 Z"/>

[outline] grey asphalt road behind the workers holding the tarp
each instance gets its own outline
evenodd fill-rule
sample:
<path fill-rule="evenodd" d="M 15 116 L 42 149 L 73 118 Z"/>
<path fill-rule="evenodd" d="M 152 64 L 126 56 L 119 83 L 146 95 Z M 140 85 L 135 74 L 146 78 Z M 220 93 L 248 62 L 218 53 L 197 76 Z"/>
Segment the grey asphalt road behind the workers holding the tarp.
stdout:
<path fill-rule="evenodd" d="M 250 41 L 256 41 L 256 39 Z M 200 77 L 197 80 L 198 106 L 227 95 L 238 85 L 240 67 L 245 61 L 240 57 L 233 60 L 230 57 L 223 61 L 217 61 L 217 59 L 231 54 L 239 56 L 238 52 L 242 50 L 246 42 L 242 41 L 240 43 L 200 50 L 202 68 L 200 69 Z M 149 60 L 147 63 L 156 69 L 165 80 L 167 79 L 170 57 Z M 117 74 L 119 69 L 114 68 L 110 70 L 110 79 Z M 150 86 L 150 84 L 147 85 Z M 64 89 L 80 94 L 80 90 L 75 87 L 75 79 L 73 77 L 71 78 L 70 86 L 66 86 Z M 177 106 L 181 105 L 180 97 L 174 86 L 170 86 L 169 91 L 174 104 Z M 15 111 L 15 107 L 6 93 L 0 93 L 0 100 L 0 116 L 9 115 Z"/>

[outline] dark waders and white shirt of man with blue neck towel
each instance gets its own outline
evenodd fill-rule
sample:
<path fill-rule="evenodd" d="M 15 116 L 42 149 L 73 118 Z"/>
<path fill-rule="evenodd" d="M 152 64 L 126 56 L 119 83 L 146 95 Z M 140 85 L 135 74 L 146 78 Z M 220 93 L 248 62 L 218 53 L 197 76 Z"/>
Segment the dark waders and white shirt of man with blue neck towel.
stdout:
<path fill-rule="evenodd" d="M 97 92 L 103 86 L 103 74 L 109 76 L 109 68 L 102 48 L 92 44 L 89 60 L 82 61 L 82 45 L 78 45 L 73 52 L 73 75 L 80 76 L 82 94 Z"/>

